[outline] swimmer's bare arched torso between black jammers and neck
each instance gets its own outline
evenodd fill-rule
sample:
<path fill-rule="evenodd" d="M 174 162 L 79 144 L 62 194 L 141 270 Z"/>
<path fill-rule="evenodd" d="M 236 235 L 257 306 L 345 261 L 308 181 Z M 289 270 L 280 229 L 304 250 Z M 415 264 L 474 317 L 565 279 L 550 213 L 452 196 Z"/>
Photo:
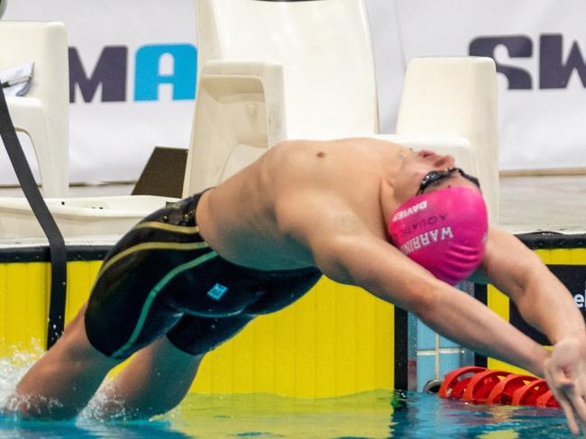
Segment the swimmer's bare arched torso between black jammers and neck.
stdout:
<path fill-rule="evenodd" d="M 234 263 L 259 270 L 313 265 L 307 246 L 288 233 L 279 206 L 307 218 L 328 212 L 335 226 L 364 226 L 384 238 L 381 181 L 394 174 L 405 153 L 371 139 L 286 142 L 208 191 L 197 223 L 212 248 Z"/>

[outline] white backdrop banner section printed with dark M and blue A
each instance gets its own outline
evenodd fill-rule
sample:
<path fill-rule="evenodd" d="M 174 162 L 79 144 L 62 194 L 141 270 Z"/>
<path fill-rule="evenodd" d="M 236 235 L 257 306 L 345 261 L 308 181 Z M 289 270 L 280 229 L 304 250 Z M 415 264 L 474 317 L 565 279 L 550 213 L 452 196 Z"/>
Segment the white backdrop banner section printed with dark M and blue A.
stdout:
<path fill-rule="evenodd" d="M 188 147 L 194 0 L 12 0 L 3 20 L 67 27 L 72 182 L 136 180 L 155 146 Z"/>

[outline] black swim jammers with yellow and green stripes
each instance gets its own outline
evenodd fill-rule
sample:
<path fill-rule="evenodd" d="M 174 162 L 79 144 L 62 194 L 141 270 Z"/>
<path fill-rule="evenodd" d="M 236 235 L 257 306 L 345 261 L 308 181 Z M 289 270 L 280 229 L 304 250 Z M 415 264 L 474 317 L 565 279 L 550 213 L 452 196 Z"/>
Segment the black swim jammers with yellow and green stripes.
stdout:
<path fill-rule="evenodd" d="M 86 311 L 98 351 L 125 359 L 166 334 L 184 352 L 208 352 L 316 284 L 315 268 L 252 270 L 218 256 L 197 228 L 200 196 L 147 216 L 106 256 Z"/>

